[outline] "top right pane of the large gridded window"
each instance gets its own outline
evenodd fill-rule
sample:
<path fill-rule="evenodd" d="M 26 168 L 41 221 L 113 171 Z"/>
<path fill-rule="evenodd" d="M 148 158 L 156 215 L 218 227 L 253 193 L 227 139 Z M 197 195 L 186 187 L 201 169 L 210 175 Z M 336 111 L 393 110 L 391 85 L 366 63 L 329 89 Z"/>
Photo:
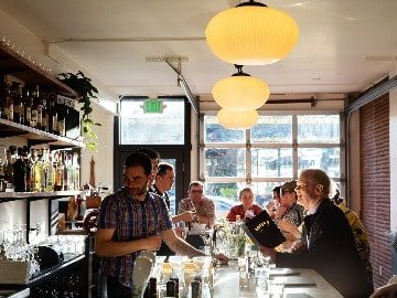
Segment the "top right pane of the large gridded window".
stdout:
<path fill-rule="evenodd" d="M 298 142 L 340 142 L 340 116 L 298 116 Z"/>

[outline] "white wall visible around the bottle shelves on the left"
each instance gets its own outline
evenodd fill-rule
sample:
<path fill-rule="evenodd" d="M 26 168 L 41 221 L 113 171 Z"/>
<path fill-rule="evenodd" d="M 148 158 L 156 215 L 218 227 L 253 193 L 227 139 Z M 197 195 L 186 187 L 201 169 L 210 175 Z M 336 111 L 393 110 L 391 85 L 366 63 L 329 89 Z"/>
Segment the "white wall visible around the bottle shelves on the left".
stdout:
<path fill-rule="evenodd" d="M 18 21 L 0 10 L 0 39 L 6 36 L 10 41 L 10 46 L 15 52 L 23 53 L 25 58 L 34 61 L 35 65 L 44 67 L 50 75 L 54 77 L 61 72 L 77 72 L 84 71 L 86 75 L 89 73 L 79 65 L 73 63 L 73 60 L 56 51 L 56 49 L 49 49 L 49 55 L 53 54 L 56 60 L 46 55 L 45 45 L 42 41 L 30 32 L 26 28 L 22 26 Z M 55 55 L 56 54 L 56 55 Z M 51 71 L 50 71 L 51 70 Z M 99 82 L 94 79 L 94 85 Z M 99 94 L 100 102 L 109 99 L 107 94 Z M 111 107 L 110 107 L 111 109 Z M 99 136 L 99 147 L 97 152 L 90 152 L 87 149 L 83 150 L 82 155 L 82 183 L 89 181 L 89 161 L 92 156 L 96 161 L 96 181 L 103 182 L 104 185 L 111 187 L 112 184 L 112 148 L 114 148 L 114 117 L 112 114 L 100 107 L 94 105 L 93 118 L 100 123 L 103 126 L 96 128 Z M 0 145 L 26 145 L 23 138 L 3 138 L 0 139 Z M 31 213 L 31 223 L 40 223 L 46 225 L 47 220 L 47 200 L 34 202 Z M 0 230 L 1 224 L 8 222 L 7 226 L 12 227 L 13 224 L 26 224 L 26 201 L 19 200 L 13 202 L 0 203 Z M 7 227 L 8 228 L 8 227 Z M 47 227 L 46 227 L 47 228 Z"/>

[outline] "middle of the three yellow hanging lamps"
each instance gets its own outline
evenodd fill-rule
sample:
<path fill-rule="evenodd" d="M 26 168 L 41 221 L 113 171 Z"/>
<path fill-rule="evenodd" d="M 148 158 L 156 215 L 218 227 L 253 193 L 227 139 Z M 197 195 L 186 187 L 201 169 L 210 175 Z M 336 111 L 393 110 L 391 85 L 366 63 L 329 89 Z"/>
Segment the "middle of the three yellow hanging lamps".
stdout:
<path fill-rule="evenodd" d="M 223 108 L 257 109 L 269 98 L 269 86 L 261 79 L 243 72 L 235 65 L 237 73 L 218 81 L 212 88 L 214 100 Z"/>

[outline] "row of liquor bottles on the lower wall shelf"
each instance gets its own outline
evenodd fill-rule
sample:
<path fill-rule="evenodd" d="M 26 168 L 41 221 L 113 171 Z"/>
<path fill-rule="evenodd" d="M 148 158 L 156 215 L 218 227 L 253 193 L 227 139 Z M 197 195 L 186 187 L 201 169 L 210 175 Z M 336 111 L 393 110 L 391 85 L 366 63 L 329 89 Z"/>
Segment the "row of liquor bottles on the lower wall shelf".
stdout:
<path fill-rule="evenodd" d="M 0 199 L 81 194 L 76 150 L 0 146 Z"/>

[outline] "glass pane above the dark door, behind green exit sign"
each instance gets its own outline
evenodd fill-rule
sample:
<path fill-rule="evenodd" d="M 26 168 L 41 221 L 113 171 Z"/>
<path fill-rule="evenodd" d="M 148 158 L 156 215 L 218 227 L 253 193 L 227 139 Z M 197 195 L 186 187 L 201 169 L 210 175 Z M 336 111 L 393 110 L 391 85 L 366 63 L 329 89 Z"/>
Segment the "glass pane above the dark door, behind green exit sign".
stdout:
<path fill-rule="evenodd" d="M 143 114 L 143 100 L 121 100 L 121 145 L 183 145 L 184 102 L 163 100 L 162 114 Z"/>

